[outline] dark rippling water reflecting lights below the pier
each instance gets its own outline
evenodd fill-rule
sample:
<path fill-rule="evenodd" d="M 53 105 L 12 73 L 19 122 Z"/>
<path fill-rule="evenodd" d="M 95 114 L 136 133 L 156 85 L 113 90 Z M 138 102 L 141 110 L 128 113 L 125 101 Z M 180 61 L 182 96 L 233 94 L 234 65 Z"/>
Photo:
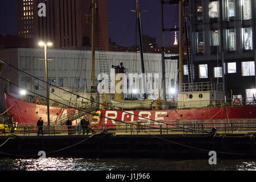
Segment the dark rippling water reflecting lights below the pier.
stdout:
<path fill-rule="evenodd" d="M 256 160 L 6 158 L 0 171 L 256 171 Z"/>

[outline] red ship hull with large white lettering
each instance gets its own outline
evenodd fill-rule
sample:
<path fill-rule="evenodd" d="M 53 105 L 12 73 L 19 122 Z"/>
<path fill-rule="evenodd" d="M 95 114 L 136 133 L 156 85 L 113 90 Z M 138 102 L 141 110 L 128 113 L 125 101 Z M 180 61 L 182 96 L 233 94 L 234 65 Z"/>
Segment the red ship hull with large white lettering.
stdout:
<path fill-rule="evenodd" d="M 36 123 L 39 117 L 47 121 L 47 106 L 24 102 L 5 93 L 6 109 L 9 115 L 13 115 L 14 122 L 18 123 Z M 72 108 L 49 107 L 51 123 L 57 121 L 63 115 L 72 117 L 77 111 Z M 256 118 L 256 106 L 236 106 L 236 107 L 217 107 L 201 109 L 171 109 L 171 110 L 98 110 L 97 114 L 101 117 L 94 116 L 92 123 L 100 125 L 115 125 L 116 119 L 119 121 L 133 122 L 142 121 L 152 125 L 158 125 L 154 121 L 164 123 L 173 123 L 175 121 L 184 121 L 185 119 L 253 119 Z M 130 113 L 130 114 L 128 114 Z M 139 117 L 140 116 L 140 117 Z M 89 117 L 89 115 L 87 115 Z M 108 117 L 105 118 L 105 117 Z M 142 118 L 143 117 L 143 118 Z M 111 118 L 111 119 L 109 119 Z M 147 119 L 150 118 L 150 119 Z M 73 121 L 77 125 L 80 119 Z"/>

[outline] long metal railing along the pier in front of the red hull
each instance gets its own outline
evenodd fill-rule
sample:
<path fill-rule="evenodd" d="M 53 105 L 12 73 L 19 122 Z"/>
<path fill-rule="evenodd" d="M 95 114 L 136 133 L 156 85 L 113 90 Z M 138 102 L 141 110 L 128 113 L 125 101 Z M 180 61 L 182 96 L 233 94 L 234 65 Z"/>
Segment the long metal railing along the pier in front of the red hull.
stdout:
<path fill-rule="evenodd" d="M 115 124 L 90 124 L 90 134 L 110 131 L 115 134 L 209 134 L 213 128 L 220 133 L 256 133 L 256 119 L 191 119 L 172 121 L 135 121 Z M 82 129 L 77 126 L 43 126 L 44 135 L 80 135 Z M 37 135 L 35 123 L 19 123 L 13 130 L 14 134 Z M 2 129 L 1 134 L 12 134 L 9 128 Z M 86 129 L 85 129 L 86 134 Z"/>

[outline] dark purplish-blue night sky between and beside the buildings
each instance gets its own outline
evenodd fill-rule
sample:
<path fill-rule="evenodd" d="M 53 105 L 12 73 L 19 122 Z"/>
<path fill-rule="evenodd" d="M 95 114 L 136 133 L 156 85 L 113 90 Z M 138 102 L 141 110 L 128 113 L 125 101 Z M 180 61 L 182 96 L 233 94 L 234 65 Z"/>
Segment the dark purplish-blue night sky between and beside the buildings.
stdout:
<path fill-rule="evenodd" d="M 20 0 L 22 1 L 22 0 Z M 135 0 L 108 0 L 109 37 L 117 45 L 130 47 L 135 44 Z M 143 35 L 156 38 L 160 46 L 160 2 L 159 0 L 140 0 Z M 15 35 L 17 32 L 16 0 L 0 1 L 0 34 Z M 165 28 L 174 27 L 176 5 L 164 5 Z M 177 20 L 176 20 L 177 22 Z M 178 23 L 178 22 L 177 22 Z M 166 45 L 170 45 L 170 34 L 166 34 Z M 172 34 L 173 39 L 173 34 Z"/>

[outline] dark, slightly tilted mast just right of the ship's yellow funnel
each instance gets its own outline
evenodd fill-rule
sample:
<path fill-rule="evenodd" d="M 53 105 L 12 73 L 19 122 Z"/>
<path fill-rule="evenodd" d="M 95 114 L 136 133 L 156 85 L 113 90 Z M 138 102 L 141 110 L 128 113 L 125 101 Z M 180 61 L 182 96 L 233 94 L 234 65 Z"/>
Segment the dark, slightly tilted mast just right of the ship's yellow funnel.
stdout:
<path fill-rule="evenodd" d="M 137 5 L 137 19 L 138 19 L 138 27 L 139 27 L 139 43 L 141 45 L 141 68 L 142 68 L 142 73 L 143 73 L 143 88 L 144 88 L 144 99 L 147 98 L 146 94 L 146 77 L 144 75 L 145 73 L 145 68 L 144 68 L 144 56 L 143 56 L 143 40 L 142 40 L 142 31 L 141 31 L 141 10 L 139 10 L 139 0 L 136 0 L 136 5 Z"/>

